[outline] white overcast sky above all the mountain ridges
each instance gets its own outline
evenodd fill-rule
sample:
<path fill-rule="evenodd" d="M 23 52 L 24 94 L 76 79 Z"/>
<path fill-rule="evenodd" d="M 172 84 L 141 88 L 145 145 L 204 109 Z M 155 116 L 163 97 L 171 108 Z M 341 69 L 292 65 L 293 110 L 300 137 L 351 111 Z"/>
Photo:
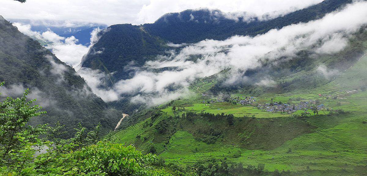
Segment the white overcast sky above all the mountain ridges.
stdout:
<path fill-rule="evenodd" d="M 6 19 L 61 20 L 83 23 L 152 23 L 168 12 L 208 7 L 224 12 L 247 11 L 257 15 L 288 13 L 322 0 L 0 0 L 0 15 Z"/>

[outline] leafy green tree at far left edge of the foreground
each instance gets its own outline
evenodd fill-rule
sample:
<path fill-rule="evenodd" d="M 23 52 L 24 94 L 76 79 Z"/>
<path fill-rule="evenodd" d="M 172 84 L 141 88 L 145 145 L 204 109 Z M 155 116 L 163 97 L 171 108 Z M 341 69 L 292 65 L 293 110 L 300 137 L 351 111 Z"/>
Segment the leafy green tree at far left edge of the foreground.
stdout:
<path fill-rule="evenodd" d="M 0 86 L 2 85 L 4 82 L 0 83 Z M 5 164 L 14 164 L 20 168 L 32 160 L 29 157 L 32 152 L 25 148 L 29 149 L 42 144 L 39 135 L 46 134 L 44 129 L 46 125 L 39 125 L 35 128 L 26 125 L 30 118 L 46 113 L 39 111 L 40 106 L 31 105 L 36 99 L 27 101 L 28 92 L 29 89 L 26 89 L 21 98 L 7 97 L 4 102 L 0 103 L 0 155 Z M 24 158 L 22 163 L 19 163 L 18 157 Z"/>

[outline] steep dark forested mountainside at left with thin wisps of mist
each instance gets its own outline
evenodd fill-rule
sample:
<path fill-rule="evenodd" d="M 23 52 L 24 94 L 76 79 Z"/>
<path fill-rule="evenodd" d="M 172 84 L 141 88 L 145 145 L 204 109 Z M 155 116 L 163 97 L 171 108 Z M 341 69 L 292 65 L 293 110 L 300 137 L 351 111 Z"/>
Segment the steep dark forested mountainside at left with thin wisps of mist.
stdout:
<path fill-rule="evenodd" d="M 61 62 L 40 43 L 22 34 L 0 17 L 0 80 L 3 96 L 19 96 L 30 88 L 47 114 L 31 124 L 53 125 L 60 121 L 69 132 L 81 122 L 88 129 L 101 122 L 103 133 L 112 130 L 121 114 L 109 109 L 91 92 L 75 70 Z"/>

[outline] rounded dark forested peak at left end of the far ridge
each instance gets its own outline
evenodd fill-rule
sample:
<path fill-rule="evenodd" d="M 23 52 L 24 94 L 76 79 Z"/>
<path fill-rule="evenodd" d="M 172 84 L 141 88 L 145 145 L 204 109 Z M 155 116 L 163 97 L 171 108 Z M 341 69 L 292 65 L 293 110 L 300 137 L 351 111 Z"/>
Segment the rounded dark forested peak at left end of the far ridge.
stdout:
<path fill-rule="evenodd" d="M 129 66 L 141 66 L 158 54 L 163 54 L 168 47 L 164 40 L 145 32 L 141 26 L 130 24 L 112 25 L 100 34 L 101 38 L 83 57 L 83 67 L 112 73 L 113 78 L 126 79 L 133 70 Z M 112 79 L 115 81 L 115 79 Z"/>

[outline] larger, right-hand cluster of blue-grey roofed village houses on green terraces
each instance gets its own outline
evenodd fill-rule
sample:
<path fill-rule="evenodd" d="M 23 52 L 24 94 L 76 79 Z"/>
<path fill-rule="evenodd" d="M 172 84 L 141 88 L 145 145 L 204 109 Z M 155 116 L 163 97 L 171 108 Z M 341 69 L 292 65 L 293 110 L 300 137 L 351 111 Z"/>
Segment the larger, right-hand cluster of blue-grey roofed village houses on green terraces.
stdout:
<path fill-rule="evenodd" d="M 316 106 L 316 101 L 315 100 L 309 100 L 309 101 L 305 101 L 305 102 L 299 102 L 299 104 L 286 104 L 286 103 L 265 103 L 265 105 L 262 104 L 258 104 L 257 108 L 258 109 L 264 109 L 268 112 L 283 112 L 283 113 L 294 113 L 297 110 L 312 110 L 314 107 L 317 108 L 317 110 L 328 110 L 327 107 L 324 106 L 324 104 L 319 104 Z"/>

